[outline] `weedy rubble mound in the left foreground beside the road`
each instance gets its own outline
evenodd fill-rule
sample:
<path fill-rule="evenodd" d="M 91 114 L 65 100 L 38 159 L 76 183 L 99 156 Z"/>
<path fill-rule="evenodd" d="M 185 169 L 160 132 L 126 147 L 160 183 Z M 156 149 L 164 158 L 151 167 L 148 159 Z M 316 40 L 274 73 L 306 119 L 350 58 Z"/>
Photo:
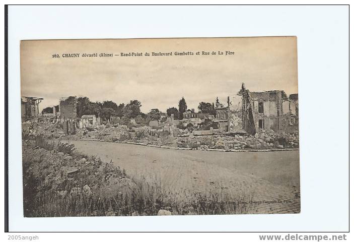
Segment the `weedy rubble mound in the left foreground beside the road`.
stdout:
<path fill-rule="evenodd" d="M 27 217 L 37 216 L 37 213 L 43 212 L 42 209 L 53 207 L 53 201 L 58 205 L 53 209 L 64 210 L 74 206 L 73 203 L 81 206 L 82 202 L 129 197 L 136 187 L 125 171 L 113 163 L 104 163 L 97 157 L 76 152 L 67 154 L 55 149 L 45 150 L 36 146 L 33 141 L 24 141 L 23 169 L 24 208 Z M 63 206 L 60 208 L 60 205 Z M 73 215 L 73 211 L 63 210 L 61 212 L 64 214 L 67 212 Z M 74 215 L 102 215 L 99 210 L 92 207 L 92 211 L 83 213 L 78 210 L 78 214 Z M 51 211 L 45 212 L 47 216 L 52 215 Z"/>

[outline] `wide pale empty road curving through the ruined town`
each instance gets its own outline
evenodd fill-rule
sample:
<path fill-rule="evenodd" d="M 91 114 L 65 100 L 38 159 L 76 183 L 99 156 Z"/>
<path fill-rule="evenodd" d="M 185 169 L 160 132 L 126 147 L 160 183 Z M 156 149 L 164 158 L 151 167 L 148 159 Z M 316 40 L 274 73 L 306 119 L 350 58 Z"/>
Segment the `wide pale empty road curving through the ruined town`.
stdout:
<path fill-rule="evenodd" d="M 69 141 L 131 176 L 159 180 L 171 191 L 248 197 L 255 213 L 300 212 L 299 151 L 174 150 L 97 141 Z"/>

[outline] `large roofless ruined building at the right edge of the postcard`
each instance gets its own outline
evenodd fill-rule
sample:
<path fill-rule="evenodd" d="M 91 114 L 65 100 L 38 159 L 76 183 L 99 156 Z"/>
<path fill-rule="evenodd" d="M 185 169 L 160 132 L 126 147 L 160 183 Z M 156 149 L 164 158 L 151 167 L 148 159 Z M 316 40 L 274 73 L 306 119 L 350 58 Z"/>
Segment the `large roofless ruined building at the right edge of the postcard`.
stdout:
<path fill-rule="evenodd" d="M 238 95 L 242 96 L 242 128 L 251 135 L 258 129 L 299 131 L 298 94 L 290 97 L 282 90 L 250 92 L 242 84 Z"/>

